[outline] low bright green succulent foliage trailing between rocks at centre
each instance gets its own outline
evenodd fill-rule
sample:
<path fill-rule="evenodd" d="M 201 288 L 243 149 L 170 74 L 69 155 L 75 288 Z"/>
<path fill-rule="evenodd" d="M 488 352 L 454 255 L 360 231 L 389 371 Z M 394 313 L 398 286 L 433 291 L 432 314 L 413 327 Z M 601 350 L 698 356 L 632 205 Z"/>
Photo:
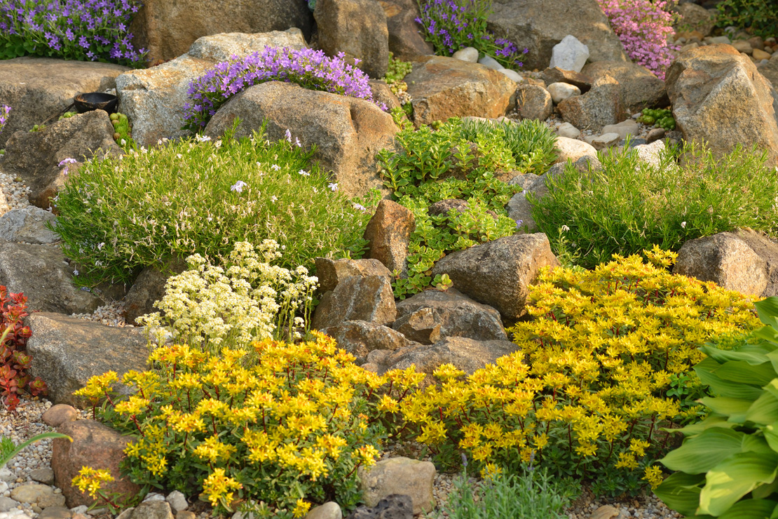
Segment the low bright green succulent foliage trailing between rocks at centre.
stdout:
<path fill-rule="evenodd" d="M 422 126 L 414 131 L 404 124 L 395 137 L 401 152 L 378 154 L 381 176 L 394 199 L 416 219 L 408 249 L 408 278 L 394 282 L 395 296 L 401 299 L 442 282 L 433 279 L 430 271 L 448 252 L 516 231 L 505 205 L 521 188 L 500 181 L 496 172 L 503 177 L 541 174 L 556 158 L 554 135 L 539 121 L 514 124 L 452 118 L 436 130 Z M 467 201 L 467 208 L 429 214 L 429 205 L 450 198 Z"/>

